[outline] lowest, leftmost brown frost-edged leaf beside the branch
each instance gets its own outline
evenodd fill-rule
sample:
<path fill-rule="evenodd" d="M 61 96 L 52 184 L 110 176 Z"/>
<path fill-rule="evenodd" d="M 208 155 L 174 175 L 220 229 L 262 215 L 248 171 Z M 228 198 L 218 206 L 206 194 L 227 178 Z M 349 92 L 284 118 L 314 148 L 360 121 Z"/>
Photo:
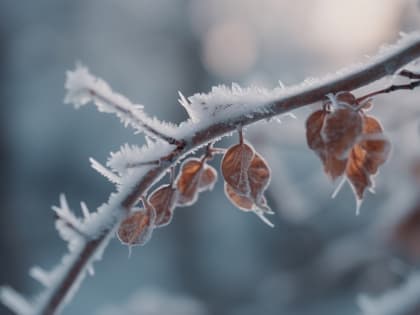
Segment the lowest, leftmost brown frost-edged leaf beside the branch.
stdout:
<path fill-rule="evenodd" d="M 155 220 L 156 212 L 152 207 L 136 211 L 121 222 L 117 236 L 125 245 L 144 245 L 152 237 Z"/>

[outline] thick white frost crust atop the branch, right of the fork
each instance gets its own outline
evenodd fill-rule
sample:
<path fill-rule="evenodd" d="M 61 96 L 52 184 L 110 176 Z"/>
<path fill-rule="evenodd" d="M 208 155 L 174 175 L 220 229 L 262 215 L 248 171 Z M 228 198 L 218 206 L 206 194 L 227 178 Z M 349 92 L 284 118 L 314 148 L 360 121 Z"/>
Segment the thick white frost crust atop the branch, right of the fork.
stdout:
<path fill-rule="evenodd" d="M 273 108 L 276 104 L 281 104 L 284 108 L 284 103 L 289 101 L 288 110 L 291 110 L 301 106 L 305 99 L 309 103 L 316 101 L 307 99 L 308 93 L 311 96 L 317 95 L 319 100 L 328 93 L 351 91 L 384 76 L 394 75 L 409 62 L 408 59 L 411 61 L 416 58 L 416 43 L 419 40 L 420 32 L 403 34 L 396 44 L 383 46 L 377 55 L 366 59 L 365 62 L 319 78 L 307 78 L 292 86 L 286 87 L 279 82 L 278 87 L 267 89 L 257 86 L 241 87 L 232 83 L 230 87 L 218 85 L 208 93 L 196 93 L 190 97 L 185 97 L 179 92 L 178 101 L 187 111 L 192 124 L 181 124 L 178 137 L 190 133 L 191 128 L 197 130 L 220 121 L 238 120 L 240 117 L 259 120 L 260 117 L 273 117 L 273 112 L 277 116 L 280 113 L 278 109 Z M 395 56 L 401 52 L 404 52 L 405 57 L 396 59 Z M 362 73 L 363 78 L 360 75 Z M 292 103 L 296 96 L 300 101 Z"/>

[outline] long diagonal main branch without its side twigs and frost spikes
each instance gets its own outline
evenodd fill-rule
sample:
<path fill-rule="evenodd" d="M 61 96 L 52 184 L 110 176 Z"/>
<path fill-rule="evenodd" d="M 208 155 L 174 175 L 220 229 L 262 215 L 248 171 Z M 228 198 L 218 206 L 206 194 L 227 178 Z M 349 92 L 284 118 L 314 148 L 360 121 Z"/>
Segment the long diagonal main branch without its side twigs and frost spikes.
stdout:
<path fill-rule="evenodd" d="M 210 125 L 194 125 L 191 123 L 188 132 L 184 130 L 182 139 L 165 139 L 180 142 L 177 143 L 177 148 L 169 155 L 160 159 L 160 164 L 148 165 L 136 170 L 139 173 L 136 175 L 135 182 L 129 185 L 130 189 L 123 189 L 119 193 L 111 194 L 108 204 L 98 211 L 101 226 L 96 237 L 79 244 L 72 250 L 70 258 L 63 262 L 64 267 L 60 276 L 56 277 L 55 282 L 50 284 L 42 298 L 34 303 L 30 312 L 17 313 L 25 315 L 57 314 L 65 302 L 70 299 L 71 293 L 76 290 L 77 285 L 86 273 L 87 267 L 102 254 L 124 215 L 139 202 L 149 187 L 156 183 L 179 159 L 203 145 L 230 134 L 237 130 L 239 126 L 270 119 L 276 115 L 321 101 L 328 93 L 352 91 L 395 73 L 401 67 L 419 57 L 420 34 L 410 35 L 408 38 L 401 40 L 396 47 L 389 48 L 388 51 L 372 58 L 368 64 L 354 67 L 351 70 L 326 77 L 314 83 L 304 83 L 297 87 L 288 88 L 275 101 L 249 109 L 246 113 L 238 112 L 237 115 L 220 117 L 213 120 Z M 158 136 L 162 137 L 162 135 Z M 4 294 L 1 294 L 1 296 L 3 296 L 4 301 Z M 6 301 L 5 304 L 10 305 L 11 303 L 8 302 L 10 301 Z"/>

